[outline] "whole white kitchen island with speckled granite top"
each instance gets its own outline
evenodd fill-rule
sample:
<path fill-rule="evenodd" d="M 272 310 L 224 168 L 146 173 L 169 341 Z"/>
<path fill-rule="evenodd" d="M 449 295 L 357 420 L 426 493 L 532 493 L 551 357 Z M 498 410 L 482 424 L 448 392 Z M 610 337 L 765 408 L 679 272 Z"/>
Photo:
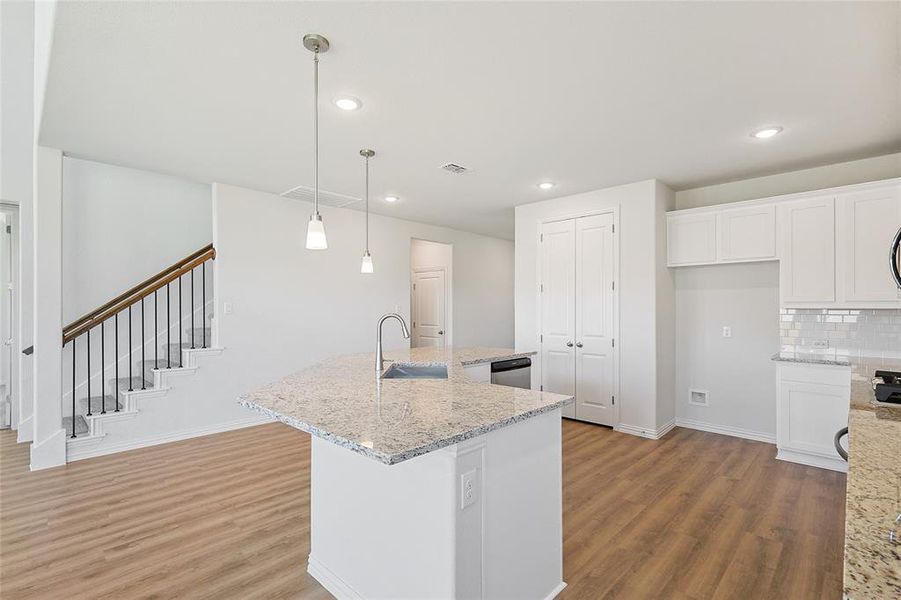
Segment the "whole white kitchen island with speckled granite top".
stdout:
<path fill-rule="evenodd" d="M 479 383 L 467 367 L 527 356 L 417 348 L 383 379 L 333 358 L 242 396 L 310 433 L 307 570 L 338 598 L 555 597 L 562 581 L 560 409 L 571 397 Z"/>

